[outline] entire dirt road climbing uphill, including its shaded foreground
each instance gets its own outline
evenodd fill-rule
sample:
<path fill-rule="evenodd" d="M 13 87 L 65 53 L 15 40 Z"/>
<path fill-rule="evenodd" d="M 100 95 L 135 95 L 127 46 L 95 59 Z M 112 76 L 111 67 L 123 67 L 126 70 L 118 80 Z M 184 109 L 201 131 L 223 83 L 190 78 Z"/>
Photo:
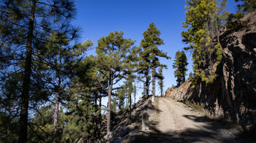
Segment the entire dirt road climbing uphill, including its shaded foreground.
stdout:
<path fill-rule="evenodd" d="M 236 128 L 226 128 L 172 98 L 155 98 L 149 106 L 148 131 L 133 131 L 124 142 L 253 142 Z"/>

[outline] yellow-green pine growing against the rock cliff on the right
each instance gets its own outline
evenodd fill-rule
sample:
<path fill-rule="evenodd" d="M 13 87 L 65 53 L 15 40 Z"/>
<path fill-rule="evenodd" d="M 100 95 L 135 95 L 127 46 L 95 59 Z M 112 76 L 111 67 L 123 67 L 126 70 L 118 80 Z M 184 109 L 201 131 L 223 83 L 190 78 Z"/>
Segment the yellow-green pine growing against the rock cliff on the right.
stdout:
<path fill-rule="evenodd" d="M 217 77 L 214 69 L 222 60 L 219 31 L 227 18 L 226 1 L 223 0 L 219 6 L 217 0 L 187 0 L 187 3 L 186 23 L 182 23 L 187 31 L 182 31 L 181 35 L 189 47 L 184 49 L 193 50 L 195 75 L 206 83 L 213 82 Z"/>

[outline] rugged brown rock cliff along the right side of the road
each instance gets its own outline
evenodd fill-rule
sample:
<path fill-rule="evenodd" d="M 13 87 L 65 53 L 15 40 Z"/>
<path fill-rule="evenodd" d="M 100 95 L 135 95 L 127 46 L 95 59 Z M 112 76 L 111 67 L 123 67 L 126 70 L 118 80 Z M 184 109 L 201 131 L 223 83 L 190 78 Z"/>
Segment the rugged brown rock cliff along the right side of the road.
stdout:
<path fill-rule="evenodd" d="M 256 12 L 239 23 L 236 29 L 222 31 L 222 63 L 213 83 L 185 82 L 167 92 L 174 98 L 203 103 L 212 115 L 230 118 L 249 131 L 256 126 Z"/>

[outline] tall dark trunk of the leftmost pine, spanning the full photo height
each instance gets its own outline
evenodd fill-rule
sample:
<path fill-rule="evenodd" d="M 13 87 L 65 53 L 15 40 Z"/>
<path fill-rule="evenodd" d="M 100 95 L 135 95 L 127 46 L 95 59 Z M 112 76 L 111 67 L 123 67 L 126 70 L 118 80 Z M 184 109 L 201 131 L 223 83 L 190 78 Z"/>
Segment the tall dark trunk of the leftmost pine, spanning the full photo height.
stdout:
<path fill-rule="evenodd" d="M 18 142 L 27 142 L 28 132 L 28 115 L 29 115 L 29 86 L 31 77 L 31 66 L 32 66 L 32 39 L 34 31 L 34 12 L 36 9 L 37 1 L 33 1 L 31 7 L 31 16 L 29 18 L 29 31 L 26 42 L 26 62 L 25 62 L 25 74 L 23 77 L 23 85 L 21 91 L 20 101 L 20 130 L 18 136 Z"/>

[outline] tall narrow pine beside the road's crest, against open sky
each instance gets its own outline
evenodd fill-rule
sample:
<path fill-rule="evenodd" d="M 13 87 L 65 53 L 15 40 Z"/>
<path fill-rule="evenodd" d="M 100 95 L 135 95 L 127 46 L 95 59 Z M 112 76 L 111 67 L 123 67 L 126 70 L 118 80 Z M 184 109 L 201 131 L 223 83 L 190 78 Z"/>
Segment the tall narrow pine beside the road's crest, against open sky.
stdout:
<path fill-rule="evenodd" d="M 157 68 L 166 67 L 166 65 L 159 62 L 159 57 L 170 58 L 166 53 L 163 53 L 162 50 L 158 49 L 159 45 L 163 45 L 163 40 L 159 37 L 161 32 L 157 29 L 154 23 L 149 25 L 147 31 L 143 33 L 143 39 L 140 42 L 140 47 L 143 50 L 140 52 L 140 63 L 138 67 L 139 74 L 143 74 L 143 77 L 146 78 L 146 96 L 148 96 L 149 85 L 152 82 L 152 93 L 155 96 L 155 81 L 157 77 Z M 152 71 L 152 81 L 150 72 Z"/>

